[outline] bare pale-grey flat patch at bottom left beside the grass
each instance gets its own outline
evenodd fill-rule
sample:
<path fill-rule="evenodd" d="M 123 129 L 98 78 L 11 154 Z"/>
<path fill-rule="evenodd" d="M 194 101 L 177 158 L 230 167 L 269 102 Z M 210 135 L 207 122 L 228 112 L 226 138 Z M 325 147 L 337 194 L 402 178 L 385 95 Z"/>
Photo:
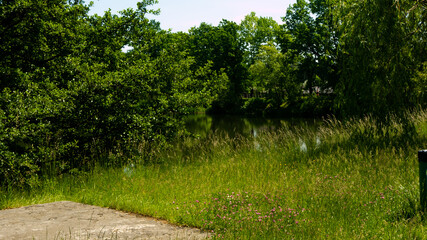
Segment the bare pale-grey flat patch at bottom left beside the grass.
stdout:
<path fill-rule="evenodd" d="M 0 239 L 205 239 L 207 233 L 75 202 L 0 211 Z"/>

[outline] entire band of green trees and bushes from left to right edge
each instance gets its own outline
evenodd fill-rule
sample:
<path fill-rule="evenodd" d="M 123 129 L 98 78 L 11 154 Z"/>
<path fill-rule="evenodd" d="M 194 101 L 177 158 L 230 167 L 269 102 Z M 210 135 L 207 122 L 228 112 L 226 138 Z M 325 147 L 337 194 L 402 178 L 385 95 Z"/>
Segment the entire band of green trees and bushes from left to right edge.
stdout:
<path fill-rule="evenodd" d="M 178 33 L 149 19 L 156 2 L 99 16 L 82 0 L 0 0 L 0 185 L 153 161 L 200 107 L 382 124 L 426 106 L 423 0 L 298 0 L 283 24 L 250 13 Z"/>

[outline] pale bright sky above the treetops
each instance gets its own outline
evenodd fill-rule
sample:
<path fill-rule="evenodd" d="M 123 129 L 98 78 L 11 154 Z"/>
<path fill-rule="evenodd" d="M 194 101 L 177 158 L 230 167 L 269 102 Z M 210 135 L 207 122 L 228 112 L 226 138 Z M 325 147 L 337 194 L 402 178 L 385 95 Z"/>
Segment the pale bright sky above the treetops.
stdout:
<path fill-rule="evenodd" d="M 127 8 L 136 8 L 138 0 L 92 0 L 89 14 L 102 15 L 111 9 L 112 13 Z M 89 1 L 87 1 L 89 2 Z M 160 8 L 160 15 L 147 16 L 160 22 L 162 29 L 172 32 L 187 32 L 191 27 L 197 27 L 202 22 L 217 26 L 222 19 L 240 24 L 241 20 L 251 12 L 257 16 L 272 17 L 282 23 L 286 9 L 296 0 L 159 0 L 151 6 Z"/>

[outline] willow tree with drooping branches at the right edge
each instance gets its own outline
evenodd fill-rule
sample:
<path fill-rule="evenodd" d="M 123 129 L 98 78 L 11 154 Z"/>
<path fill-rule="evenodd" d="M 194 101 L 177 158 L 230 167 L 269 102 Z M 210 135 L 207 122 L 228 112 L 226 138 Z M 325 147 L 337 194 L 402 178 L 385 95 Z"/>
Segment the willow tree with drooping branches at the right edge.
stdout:
<path fill-rule="evenodd" d="M 410 131 L 405 113 L 416 107 L 426 84 L 419 77 L 427 60 L 425 5 L 342 0 L 336 10 L 343 60 L 337 99 L 341 113 L 370 114 L 382 133 L 392 129 L 392 119 Z"/>

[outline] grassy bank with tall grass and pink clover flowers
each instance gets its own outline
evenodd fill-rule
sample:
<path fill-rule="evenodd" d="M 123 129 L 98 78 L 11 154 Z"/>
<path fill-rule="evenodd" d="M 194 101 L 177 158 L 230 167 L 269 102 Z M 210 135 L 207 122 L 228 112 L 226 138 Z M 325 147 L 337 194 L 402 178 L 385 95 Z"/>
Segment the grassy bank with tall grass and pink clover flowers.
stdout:
<path fill-rule="evenodd" d="M 158 163 L 46 180 L 0 194 L 0 208 L 73 200 L 196 226 L 226 239 L 427 239 L 419 208 L 418 137 L 363 137 L 370 119 L 329 120 L 255 139 L 187 140 Z M 398 126 L 396 125 L 396 129 Z M 353 134 L 352 134 L 353 133 Z"/>

